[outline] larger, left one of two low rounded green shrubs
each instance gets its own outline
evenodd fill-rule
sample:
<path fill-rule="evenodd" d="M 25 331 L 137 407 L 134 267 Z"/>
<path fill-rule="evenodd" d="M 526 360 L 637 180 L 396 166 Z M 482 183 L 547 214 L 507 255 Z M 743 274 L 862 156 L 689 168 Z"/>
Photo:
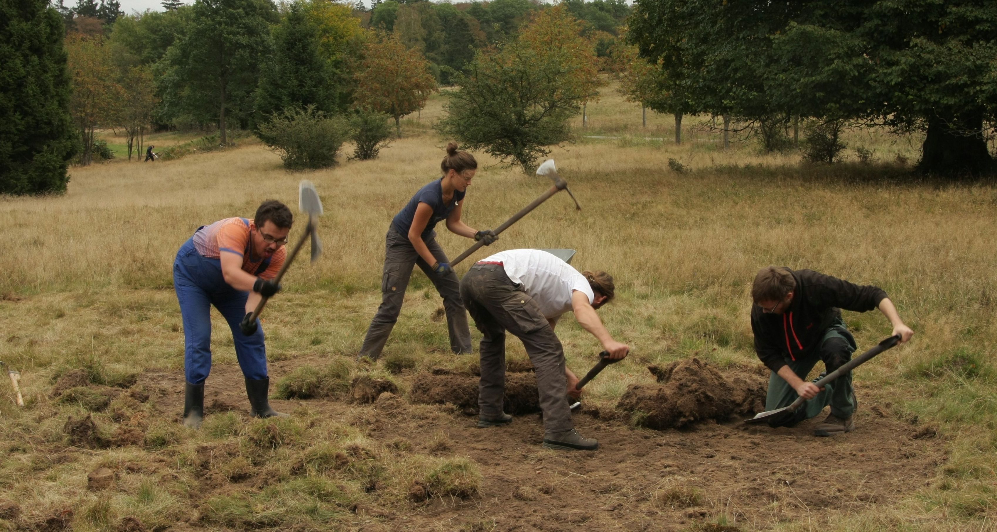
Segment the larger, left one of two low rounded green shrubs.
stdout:
<path fill-rule="evenodd" d="M 315 106 L 274 113 L 259 126 L 257 133 L 280 154 L 284 167 L 291 170 L 335 165 L 336 155 L 348 134 L 346 119 L 315 111 Z"/>

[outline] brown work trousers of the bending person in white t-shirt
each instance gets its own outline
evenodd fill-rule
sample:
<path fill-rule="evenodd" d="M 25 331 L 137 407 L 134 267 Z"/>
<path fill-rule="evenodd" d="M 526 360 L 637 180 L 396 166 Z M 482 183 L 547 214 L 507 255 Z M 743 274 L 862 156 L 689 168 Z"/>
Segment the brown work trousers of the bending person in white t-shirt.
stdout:
<path fill-rule="evenodd" d="M 536 370 L 536 388 L 543 410 L 543 431 L 574 428 L 566 398 L 564 348 L 540 308 L 505 275 L 500 264 L 476 264 L 461 280 L 461 299 L 475 319 L 482 338 L 482 380 L 478 385 L 481 415 L 498 417 L 505 395 L 505 331 L 526 348 Z"/>

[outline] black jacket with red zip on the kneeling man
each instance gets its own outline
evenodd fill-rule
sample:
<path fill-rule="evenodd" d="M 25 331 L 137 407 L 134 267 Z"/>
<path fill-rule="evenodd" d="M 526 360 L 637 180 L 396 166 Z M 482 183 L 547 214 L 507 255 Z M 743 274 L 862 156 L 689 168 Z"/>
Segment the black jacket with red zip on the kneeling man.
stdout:
<path fill-rule="evenodd" d="M 844 309 L 870 311 L 886 298 L 882 289 L 859 286 L 815 272 L 790 270 L 797 287 L 793 301 L 783 314 L 767 314 L 753 305 L 751 328 L 755 333 L 755 352 L 773 372 L 817 349 L 831 324 Z"/>

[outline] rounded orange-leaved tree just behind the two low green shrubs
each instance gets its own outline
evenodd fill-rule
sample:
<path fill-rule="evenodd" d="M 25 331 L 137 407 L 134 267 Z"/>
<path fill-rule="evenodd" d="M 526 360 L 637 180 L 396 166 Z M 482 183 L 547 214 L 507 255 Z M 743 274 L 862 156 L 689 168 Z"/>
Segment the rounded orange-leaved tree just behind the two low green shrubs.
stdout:
<path fill-rule="evenodd" d="M 389 35 L 367 44 L 357 76 L 356 107 L 394 118 L 399 136 L 401 118 L 423 109 L 436 90 L 430 64 L 418 50 L 406 49 L 401 40 Z"/>

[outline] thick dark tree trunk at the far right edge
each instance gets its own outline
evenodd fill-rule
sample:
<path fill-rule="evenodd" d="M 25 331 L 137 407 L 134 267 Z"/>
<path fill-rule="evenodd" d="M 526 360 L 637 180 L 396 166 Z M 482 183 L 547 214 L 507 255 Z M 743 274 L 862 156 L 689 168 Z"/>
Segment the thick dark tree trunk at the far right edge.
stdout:
<path fill-rule="evenodd" d="M 997 170 L 986 139 L 980 134 L 982 130 L 982 111 L 968 117 L 929 118 L 917 170 L 950 176 L 976 176 Z"/>

